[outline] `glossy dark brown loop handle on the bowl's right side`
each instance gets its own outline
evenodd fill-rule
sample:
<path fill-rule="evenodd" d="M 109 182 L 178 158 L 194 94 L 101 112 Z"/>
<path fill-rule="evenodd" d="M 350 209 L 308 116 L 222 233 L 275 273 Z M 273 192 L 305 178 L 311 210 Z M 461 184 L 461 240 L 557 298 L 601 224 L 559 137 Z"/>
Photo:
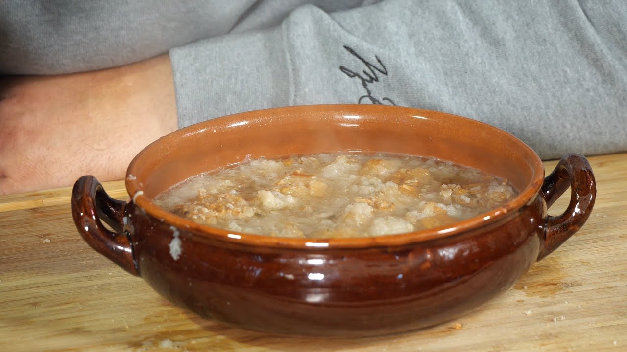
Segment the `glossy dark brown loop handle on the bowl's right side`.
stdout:
<path fill-rule="evenodd" d="M 559 160 L 557 166 L 544 179 L 540 196 L 547 209 L 571 187 L 571 202 L 566 210 L 557 216 L 547 217 L 544 225 L 544 242 L 540 244 L 540 260 L 555 251 L 564 241 L 586 223 L 596 199 L 596 181 L 586 157 L 568 153 Z"/>

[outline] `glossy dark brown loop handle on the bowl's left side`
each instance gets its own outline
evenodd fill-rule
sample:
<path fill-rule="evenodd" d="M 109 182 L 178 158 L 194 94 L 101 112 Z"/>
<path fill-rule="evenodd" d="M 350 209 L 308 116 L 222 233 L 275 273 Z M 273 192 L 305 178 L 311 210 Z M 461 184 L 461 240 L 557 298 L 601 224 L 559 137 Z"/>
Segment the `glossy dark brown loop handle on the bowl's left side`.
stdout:
<path fill-rule="evenodd" d="M 139 276 L 130 239 L 124 231 L 127 203 L 109 197 L 95 177 L 83 176 L 74 184 L 71 205 L 76 229 L 85 242 L 126 271 Z M 100 219 L 115 232 L 104 227 Z"/>

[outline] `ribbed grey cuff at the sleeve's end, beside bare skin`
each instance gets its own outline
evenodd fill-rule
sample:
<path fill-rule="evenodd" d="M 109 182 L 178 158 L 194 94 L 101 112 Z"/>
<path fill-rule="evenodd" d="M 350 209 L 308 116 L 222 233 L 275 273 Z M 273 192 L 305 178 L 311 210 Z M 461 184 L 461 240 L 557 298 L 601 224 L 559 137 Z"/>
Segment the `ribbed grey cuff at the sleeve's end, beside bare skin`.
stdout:
<path fill-rule="evenodd" d="M 179 128 L 233 113 L 290 105 L 290 63 L 280 27 L 226 34 L 169 53 Z"/>

